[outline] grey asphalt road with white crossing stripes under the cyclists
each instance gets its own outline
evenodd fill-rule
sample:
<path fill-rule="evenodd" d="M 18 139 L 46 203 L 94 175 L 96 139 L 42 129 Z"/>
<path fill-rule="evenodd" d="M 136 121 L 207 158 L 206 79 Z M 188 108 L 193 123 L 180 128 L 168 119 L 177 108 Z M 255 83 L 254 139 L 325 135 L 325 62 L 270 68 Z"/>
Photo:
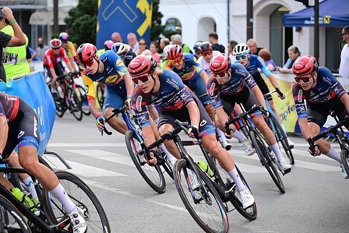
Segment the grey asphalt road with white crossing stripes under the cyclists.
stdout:
<path fill-rule="evenodd" d="M 230 232 L 349 232 L 349 180 L 343 179 L 338 162 L 324 155 L 314 158 L 302 138 L 291 139 L 296 143 L 295 165 L 282 177 L 285 194 L 257 155 L 245 156 L 241 144 L 231 140 L 230 154 L 249 183 L 258 216 L 248 221 L 230 212 Z M 57 117 L 48 150 L 62 155 L 73 168 L 70 171 L 94 190 L 113 233 L 203 232 L 184 208 L 170 176 L 165 177 L 166 192 L 156 193 L 132 166 L 124 136 L 117 132 L 101 136 L 91 116 L 81 122 L 69 113 Z M 199 148 L 189 152 L 200 160 Z M 46 159 L 64 169 L 56 158 Z"/>

